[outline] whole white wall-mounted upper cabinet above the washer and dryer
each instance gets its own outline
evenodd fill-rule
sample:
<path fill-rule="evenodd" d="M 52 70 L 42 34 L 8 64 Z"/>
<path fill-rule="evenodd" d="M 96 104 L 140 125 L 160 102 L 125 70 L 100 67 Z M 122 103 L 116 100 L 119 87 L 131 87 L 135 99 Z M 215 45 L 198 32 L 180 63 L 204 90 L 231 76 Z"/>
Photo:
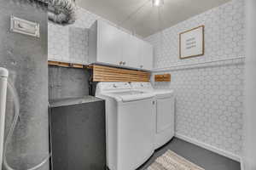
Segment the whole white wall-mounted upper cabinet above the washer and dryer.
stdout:
<path fill-rule="evenodd" d="M 153 47 L 106 22 L 96 21 L 89 31 L 89 63 L 152 70 Z"/>

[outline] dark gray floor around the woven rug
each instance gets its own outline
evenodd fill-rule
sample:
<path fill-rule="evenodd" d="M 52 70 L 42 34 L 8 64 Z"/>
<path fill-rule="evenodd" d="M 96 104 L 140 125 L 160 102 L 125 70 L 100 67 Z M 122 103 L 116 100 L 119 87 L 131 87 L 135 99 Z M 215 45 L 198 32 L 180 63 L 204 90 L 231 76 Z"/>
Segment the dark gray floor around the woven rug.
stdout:
<path fill-rule="evenodd" d="M 195 144 L 190 144 L 181 139 L 174 138 L 171 142 L 156 150 L 152 156 L 142 167 L 137 170 L 146 170 L 147 167 L 159 156 L 164 154 L 166 150 L 172 150 L 179 156 L 183 156 L 187 160 L 206 170 L 240 170 L 240 163 L 230 160 L 224 156 L 205 150 Z"/>

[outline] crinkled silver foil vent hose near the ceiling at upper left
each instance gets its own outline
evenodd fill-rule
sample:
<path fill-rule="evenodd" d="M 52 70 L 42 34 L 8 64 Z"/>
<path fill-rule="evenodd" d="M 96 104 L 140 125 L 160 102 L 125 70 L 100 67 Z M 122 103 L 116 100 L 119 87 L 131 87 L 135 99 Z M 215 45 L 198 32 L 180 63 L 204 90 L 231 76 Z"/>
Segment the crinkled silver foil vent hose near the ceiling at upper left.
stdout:
<path fill-rule="evenodd" d="M 48 19 L 61 25 L 73 24 L 76 20 L 75 0 L 13 0 L 16 3 L 29 3 L 37 8 L 47 9 Z"/>

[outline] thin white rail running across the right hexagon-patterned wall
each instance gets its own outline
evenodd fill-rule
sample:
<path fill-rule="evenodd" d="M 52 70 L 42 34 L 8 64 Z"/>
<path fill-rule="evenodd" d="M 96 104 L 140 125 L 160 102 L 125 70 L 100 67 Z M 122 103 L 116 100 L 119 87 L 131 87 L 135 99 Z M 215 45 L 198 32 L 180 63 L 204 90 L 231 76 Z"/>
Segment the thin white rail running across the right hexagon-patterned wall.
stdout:
<path fill-rule="evenodd" d="M 175 69 L 177 67 L 203 65 L 203 64 L 224 62 L 224 61 L 230 61 L 230 60 L 236 60 L 236 59 L 245 59 L 245 57 L 235 57 L 235 58 L 228 58 L 228 59 L 216 59 L 216 60 L 203 61 L 203 62 L 192 63 L 192 64 L 183 64 L 183 65 L 171 65 L 171 66 L 168 66 L 168 67 L 154 69 L 153 72 L 171 71 L 171 70 L 173 70 L 173 69 Z"/>

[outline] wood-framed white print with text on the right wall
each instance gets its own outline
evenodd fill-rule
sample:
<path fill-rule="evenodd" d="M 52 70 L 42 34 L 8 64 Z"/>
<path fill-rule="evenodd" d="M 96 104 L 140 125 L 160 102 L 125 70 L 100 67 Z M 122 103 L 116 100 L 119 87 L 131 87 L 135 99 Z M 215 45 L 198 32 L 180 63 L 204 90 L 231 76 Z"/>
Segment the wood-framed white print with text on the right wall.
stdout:
<path fill-rule="evenodd" d="M 205 26 L 198 26 L 189 31 L 179 34 L 179 57 L 187 59 L 190 57 L 201 56 L 205 52 L 204 41 Z"/>

